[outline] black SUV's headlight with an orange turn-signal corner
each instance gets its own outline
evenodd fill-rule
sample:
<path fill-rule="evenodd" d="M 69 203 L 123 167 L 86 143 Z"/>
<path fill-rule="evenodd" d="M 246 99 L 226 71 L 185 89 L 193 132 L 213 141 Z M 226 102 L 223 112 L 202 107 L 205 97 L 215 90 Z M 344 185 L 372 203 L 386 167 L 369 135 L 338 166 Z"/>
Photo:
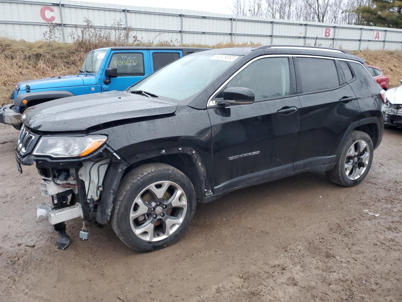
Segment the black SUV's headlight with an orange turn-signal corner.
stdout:
<path fill-rule="evenodd" d="M 77 137 L 43 136 L 33 151 L 33 155 L 51 157 L 82 157 L 99 149 L 107 140 L 105 135 Z"/>

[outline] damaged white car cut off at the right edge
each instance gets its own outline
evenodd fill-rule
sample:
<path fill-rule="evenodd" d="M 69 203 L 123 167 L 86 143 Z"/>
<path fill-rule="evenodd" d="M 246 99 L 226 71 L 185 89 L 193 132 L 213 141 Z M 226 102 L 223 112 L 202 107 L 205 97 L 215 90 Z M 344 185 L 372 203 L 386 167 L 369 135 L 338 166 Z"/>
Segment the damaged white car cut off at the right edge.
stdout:
<path fill-rule="evenodd" d="M 385 97 L 385 126 L 402 126 L 402 85 L 387 90 Z"/>

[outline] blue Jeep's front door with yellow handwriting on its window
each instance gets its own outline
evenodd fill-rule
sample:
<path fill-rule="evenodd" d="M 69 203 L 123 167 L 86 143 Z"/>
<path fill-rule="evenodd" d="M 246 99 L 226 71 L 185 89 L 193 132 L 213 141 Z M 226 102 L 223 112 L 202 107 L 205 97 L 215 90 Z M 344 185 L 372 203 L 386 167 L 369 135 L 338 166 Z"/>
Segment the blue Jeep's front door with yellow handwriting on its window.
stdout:
<path fill-rule="evenodd" d="M 117 78 L 110 79 L 105 85 L 105 71 L 102 76 L 102 90 L 125 90 L 127 87 L 137 83 L 146 75 L 150 74 L 150 64 L 147 50 L 119 50 L 112 51 L 105 68 L 116 67 Z M 105 69 L 106 70 L 106 69 Z"/>

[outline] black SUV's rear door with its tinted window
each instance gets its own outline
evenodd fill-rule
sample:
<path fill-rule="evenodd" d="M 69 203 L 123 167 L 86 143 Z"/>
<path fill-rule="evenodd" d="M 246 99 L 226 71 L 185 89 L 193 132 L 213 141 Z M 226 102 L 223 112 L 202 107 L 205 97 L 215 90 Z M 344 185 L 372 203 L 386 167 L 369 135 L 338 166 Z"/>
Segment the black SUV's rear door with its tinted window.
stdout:
<path fill-rule="evenodd" d="M 336 161 L 343 134 L 359 119 L 359 104 L 334 59 L 299 56 L 294 61 L 301 102 L 294 163 L 299 171 Z"/>

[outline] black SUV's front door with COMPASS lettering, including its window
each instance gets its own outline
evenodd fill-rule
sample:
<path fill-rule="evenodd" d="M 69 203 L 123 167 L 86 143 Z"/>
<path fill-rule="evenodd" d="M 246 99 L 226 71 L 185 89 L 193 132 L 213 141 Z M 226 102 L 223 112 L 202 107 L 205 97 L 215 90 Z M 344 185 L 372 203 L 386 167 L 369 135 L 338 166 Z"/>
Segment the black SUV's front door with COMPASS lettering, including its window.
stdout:
<path fill-rule="evenodd" d="M 300 102 L 291 66 L 288 57 L 260 58 L 214 97 L 228 87 L 250 88 L 255 95 L 253 104 L 208 108 L 215 194 L 292 172 Z"/>

